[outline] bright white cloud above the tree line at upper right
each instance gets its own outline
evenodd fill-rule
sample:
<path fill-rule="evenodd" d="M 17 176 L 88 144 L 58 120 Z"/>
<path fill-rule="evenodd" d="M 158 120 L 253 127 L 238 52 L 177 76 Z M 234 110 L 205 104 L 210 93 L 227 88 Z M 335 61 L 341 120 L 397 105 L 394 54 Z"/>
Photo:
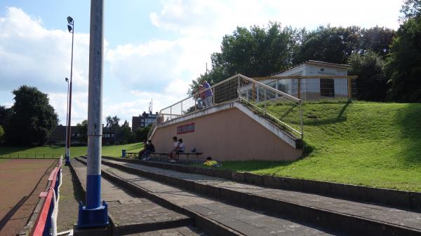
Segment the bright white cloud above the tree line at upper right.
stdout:
<path fill-rule="evenodd" d="M 156 27 L 183 35 L 221 38 L 236 26 L 266 25 L 269 21 L 309 29 L 329 23 L 396 29 L 402 0 L 161 0 L 161 4 L 161 11 L 149 15 Z"/>

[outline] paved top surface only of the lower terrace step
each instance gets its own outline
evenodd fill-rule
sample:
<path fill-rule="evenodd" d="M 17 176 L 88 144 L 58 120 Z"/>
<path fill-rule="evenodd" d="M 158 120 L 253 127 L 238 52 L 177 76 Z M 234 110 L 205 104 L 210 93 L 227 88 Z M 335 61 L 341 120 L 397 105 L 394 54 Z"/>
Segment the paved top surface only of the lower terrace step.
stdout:
<path fill-rule="evenodd" d="M 159 195 L 164 200 L 194 211 L 196 214 L 206 216 L 243 235 L 330 235 L 318 228 L 301 225 L 265 212 L 234 207 L 212 197 L 205 197 L 184 189 L 152 181 L 142 176 L 128 174 L 119 169 L 110 168 L 107 165 L 102 165 L 102 169 L 109 174 L 119 176 L 135 184 L 139 188 Z M 166 170 L 163 171 L 166 172 Z"/>

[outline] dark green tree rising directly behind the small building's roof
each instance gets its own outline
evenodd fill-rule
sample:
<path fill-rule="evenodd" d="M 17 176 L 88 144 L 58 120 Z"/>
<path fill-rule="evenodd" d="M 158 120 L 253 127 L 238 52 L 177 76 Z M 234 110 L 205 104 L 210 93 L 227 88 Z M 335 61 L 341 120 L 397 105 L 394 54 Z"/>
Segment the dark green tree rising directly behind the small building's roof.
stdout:
<path fill-rule="evenodd" d="M 359 51 L 360 28 L 319 27 L 303 36 L 300 50 L 294 62 L 307 60 L 345 64 L 348 57 Z"/>

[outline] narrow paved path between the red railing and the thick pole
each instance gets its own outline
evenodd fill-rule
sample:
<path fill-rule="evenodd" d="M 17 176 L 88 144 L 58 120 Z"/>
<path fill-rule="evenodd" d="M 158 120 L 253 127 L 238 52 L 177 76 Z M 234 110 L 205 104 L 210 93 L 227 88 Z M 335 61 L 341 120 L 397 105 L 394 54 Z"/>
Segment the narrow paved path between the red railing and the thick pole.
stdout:
<path fill-rule="evenodd" d="M 57 231 L 72 230 L 77 221 L 79 201 L 84 201 L 83 189 L 68 166 L 62 166 L 62 185 L 58 203 Z"/>

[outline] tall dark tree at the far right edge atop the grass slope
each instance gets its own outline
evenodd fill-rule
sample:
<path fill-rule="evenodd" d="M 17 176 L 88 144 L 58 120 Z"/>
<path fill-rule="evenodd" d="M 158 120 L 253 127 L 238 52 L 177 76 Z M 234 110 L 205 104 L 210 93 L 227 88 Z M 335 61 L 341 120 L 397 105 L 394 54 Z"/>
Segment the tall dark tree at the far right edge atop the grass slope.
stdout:
<path fill-rule="evenodd" d="M 399 27 L 390 49 L 387 69 L 391 75 L 391 99 L 421 102 L 421 17 Z"/>

